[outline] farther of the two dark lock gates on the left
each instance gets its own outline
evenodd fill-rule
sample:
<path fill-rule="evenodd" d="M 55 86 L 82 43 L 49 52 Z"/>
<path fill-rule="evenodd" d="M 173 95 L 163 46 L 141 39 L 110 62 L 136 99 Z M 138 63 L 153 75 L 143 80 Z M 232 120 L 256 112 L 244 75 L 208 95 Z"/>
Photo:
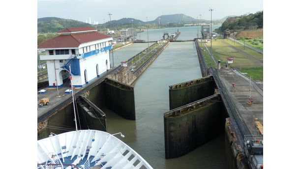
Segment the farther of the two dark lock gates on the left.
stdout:
<path fill-rule="evenodd" d="M 135 120 L 135 98 L 132 86 L 107 79 L 105 87 L 106 106 L 125 119 Z"/>

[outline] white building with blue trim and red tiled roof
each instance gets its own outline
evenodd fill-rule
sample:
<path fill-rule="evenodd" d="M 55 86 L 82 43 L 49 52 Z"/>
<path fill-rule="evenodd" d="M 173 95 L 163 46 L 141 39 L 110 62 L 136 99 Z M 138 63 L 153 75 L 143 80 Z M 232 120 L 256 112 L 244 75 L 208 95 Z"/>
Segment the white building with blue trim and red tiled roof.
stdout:
<path fill-rule="evenodd" d="M 92 27 L 66 28 L 59 36 L 38 45 L 45 50 L 41 60 L 47 61 L 49 86 L 69 86 L 69 65 L 72 84 L 82 87 L 110 69 L 111 36 Z"/>

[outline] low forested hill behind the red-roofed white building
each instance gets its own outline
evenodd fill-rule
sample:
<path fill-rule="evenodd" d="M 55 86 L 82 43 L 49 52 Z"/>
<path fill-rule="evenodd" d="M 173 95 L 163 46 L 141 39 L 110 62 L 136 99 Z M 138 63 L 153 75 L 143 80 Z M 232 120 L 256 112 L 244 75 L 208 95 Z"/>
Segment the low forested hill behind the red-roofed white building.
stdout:
<path fill-rule="evenodd" d="M 72 19 L 61 19 L 56 17 L 45 17 L 37 20 L 38 33 L 58 32 L 69 27 L 91 27 L 91 25 Z"/>

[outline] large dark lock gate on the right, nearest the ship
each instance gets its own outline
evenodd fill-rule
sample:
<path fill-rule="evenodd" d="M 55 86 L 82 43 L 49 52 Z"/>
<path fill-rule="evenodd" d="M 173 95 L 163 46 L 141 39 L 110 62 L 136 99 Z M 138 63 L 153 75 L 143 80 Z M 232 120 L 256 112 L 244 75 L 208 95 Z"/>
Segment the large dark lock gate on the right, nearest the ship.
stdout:
<path fill-rule="evenodd" d="M 181 114 L 164 116 L 165 158 L 177 158 L 217 137 L 224 130 L 221 102 Z"/>

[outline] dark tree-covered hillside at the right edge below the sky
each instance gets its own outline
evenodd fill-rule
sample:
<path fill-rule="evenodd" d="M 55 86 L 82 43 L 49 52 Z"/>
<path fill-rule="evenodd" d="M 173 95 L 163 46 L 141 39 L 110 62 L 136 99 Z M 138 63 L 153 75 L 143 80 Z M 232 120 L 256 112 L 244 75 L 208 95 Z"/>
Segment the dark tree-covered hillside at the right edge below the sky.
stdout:
<path fill-rule="evenodd" d="M 263 28 L 263 11 L 255 14 L 241 15 L 237 17 L 229 17 L 218 28 L 219 31 L 226 29 L 255 29 Z"/>

